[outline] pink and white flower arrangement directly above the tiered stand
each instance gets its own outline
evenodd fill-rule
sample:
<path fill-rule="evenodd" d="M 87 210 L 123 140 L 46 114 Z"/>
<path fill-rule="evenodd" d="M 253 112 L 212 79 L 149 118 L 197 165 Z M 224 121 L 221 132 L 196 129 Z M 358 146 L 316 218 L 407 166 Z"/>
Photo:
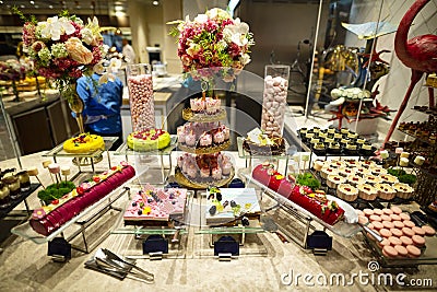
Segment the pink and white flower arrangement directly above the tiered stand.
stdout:
<path fill-rule="evenodd" d="M 189 16 L 170 31 L 178 37 L 178 57 L 184 71 L 193 80 L 205 81 L 211 86 L 214 77 L 232 82 L 250 62 L 250 47 L 255 45 L 249 25 L 233 19 L 222 9 L 211 9 L 198 14 L 193 21 Z M 202 89 L 204 83 L 202 82 Z"/>

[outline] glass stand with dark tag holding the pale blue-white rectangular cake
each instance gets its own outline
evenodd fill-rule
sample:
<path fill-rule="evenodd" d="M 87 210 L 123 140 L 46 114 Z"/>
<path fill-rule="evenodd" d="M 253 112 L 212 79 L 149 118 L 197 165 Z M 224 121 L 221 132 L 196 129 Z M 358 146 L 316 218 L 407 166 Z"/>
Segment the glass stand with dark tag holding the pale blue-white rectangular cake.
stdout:
<path fill-rule="evenodd" d="M 194 256 L 231 260 L 240 256 L 268 255 L 268 249 L 263 244 L 265 230 L 261 225 L 260 214 L 248 215 L 248 226 L 241 224 L 240 218 L 223 225 L 209 225 L 205 217 L 206 206 L 206 192 L 199 191 L 197 203 L 192 205 L 190 219 L 190 225 L 197 226 L 194 246 L 198 249 L 194 250 Z M 227 250 L 226 244 L 231 244 L 235 249 Z"/>

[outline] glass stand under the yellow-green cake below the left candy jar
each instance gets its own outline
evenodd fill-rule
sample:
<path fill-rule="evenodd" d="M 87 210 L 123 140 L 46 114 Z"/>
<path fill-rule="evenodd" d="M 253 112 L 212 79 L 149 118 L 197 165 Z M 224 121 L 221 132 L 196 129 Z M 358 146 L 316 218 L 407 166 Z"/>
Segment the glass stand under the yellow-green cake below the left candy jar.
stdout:
<path fill-rule="evenodd" d="M 176 145 L 177 136 L 172 135 L 170 144 L 164 149 L 146 152 L 134 151 L 129 149 L 128 144 L 125 142 L 114 154 L 125 155 L 127 162 L 133 160 L 137 171 L 143 174 L 142 176 L 139 176 L 139 183 L 141 185 L 145 183 L 162 185 L 165 184 L 172 172 L 172 153 Z M 164 157 L 168 159 L 167 164 L 165 164 Z M 154 166 L 156 164 L 157 167 Z"/>

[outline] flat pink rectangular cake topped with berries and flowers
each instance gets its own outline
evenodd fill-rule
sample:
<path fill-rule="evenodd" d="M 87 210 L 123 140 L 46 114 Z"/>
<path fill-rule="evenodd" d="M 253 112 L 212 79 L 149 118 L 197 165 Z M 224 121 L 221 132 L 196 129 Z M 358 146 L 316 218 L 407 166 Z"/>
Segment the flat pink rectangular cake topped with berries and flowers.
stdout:
<path fill-rule="evenodd" d="M 138 191 L 123 214 L 125 224 L 139 225 L 168 222 L 170 217 L 181 217 L 185 211 L 187 189 L 154 188 L 146 185 Z"/>

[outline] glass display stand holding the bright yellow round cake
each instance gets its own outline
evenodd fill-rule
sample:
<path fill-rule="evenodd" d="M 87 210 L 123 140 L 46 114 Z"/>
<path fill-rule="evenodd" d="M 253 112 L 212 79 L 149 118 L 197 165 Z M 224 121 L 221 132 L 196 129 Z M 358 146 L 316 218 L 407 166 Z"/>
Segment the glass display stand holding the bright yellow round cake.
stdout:
<path fill-rule="evenodd" d="M 105 149 L 110 149 L 117 139 L 118 139 L 117 137 L 103 137 L 103 140 L 105 141 Z M 91 165 L 92 173 L 95 173 L 95 164 L 103 160 L 104 152 L 106 152 L 109 165 L 108 168 L 110 168 L 111 165 L 110 165 L 110 156 L 108 150 L 98 149 L 91 153 L 68 153 L 63 150 L 63 143 L 60 143 L 50 151 L 44 153 L 43 156 L 54 157 L 55 162 L 57 162 L 58 157 L 72 157 L 73 164 L 79 167 L 79 172 L 70 178 L 71 180 L 74 180 L 74 178 L 76 178 L 81 173 L 83 173 L 82 166 Z"/>

